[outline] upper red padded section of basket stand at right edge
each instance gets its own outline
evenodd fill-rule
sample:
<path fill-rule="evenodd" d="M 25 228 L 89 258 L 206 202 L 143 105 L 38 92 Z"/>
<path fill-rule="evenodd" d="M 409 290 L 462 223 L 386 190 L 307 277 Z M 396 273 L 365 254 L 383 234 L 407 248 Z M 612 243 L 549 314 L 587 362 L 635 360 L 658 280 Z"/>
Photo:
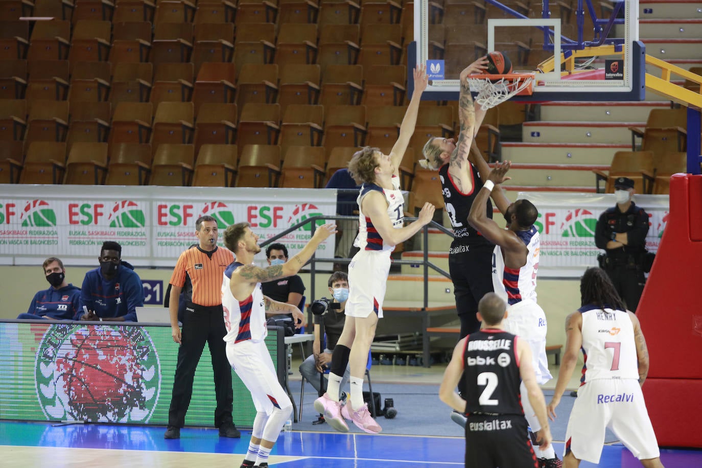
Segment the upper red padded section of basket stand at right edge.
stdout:
<path fill-rule="evenodd" d="M 702 175 L 673 175 L 668 223 L 636 314 L 649 348 L 649 377 L 702 379 L 702 307 L 695 273 L 702 265 L 702 241 L 690 238 L 692 226 L 702 229 L 701 223 Z M 671 396 L 665 397 L 668 403 Z M 696 421 L 700 424 L 702 413 Z"/>

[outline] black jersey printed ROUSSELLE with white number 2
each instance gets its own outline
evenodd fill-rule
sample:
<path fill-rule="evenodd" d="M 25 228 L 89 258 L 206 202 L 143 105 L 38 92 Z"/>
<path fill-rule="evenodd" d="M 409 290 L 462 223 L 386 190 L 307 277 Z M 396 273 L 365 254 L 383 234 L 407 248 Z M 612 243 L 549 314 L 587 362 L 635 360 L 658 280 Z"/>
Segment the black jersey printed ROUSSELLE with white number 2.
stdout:
<path fill-rule="evenodd" d="M 465 413 L 524 415 L 517 336 L 496 328 L 468 335 L 463 350 Z"/>

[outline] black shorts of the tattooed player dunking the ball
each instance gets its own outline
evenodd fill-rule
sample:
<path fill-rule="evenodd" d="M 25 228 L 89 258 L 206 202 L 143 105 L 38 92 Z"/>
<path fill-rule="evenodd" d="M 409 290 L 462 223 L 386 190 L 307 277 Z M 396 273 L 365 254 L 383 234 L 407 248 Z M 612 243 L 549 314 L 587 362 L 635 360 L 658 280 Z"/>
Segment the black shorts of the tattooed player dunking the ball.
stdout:
<path fill-rule="evenodd" d="M 495 246 L 479 243 L 468 246 L 468 251 L 449 253 L 449 274 L 453 281 L 458 315 L 475 315 L 478 302 L 487 293 L 494 293 L 492 283 L 492 255 Z"/>

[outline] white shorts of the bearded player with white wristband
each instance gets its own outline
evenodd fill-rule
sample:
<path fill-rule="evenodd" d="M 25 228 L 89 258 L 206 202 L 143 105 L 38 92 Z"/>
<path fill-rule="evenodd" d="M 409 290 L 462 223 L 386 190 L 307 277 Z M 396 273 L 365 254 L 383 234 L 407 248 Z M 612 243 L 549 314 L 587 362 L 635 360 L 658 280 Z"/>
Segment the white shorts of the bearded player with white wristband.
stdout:
<path fill-rule="evenodd" d="M 546 357 L 546 315 L 533 300 L 522 300 L 507 307 L 507 319 L 503 321 L 505 331 L 526 340 L 531 348 L 536 382 L 543 385 L 553 377 L 548 370 Z"/>

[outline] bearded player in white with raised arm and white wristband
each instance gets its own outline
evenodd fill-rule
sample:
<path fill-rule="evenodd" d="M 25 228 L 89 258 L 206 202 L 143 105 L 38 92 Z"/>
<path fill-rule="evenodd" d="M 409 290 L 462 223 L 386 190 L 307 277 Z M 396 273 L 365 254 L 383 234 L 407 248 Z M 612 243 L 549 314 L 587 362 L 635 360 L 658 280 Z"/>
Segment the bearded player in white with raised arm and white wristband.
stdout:
<path fill-rule="evenodd" d="M 486 239 L 501 248 L 505 265 L 503 283 L 509 304 L 505 330 L 522 337 L 529 344 L 534 359 L 536 382 L 545 384 L 552 377 L 546 358 L 546 316 L 543 309 L 536 303 L 536 272 L 541 248 L 538 230 L 534 226 L 538 210 L 529 200 L 515 201 L 505 213 L 508 229 L 500 229 L 496 222 L 485 215 L 485 206 L 490 192 L 494 185 L 509 179 L 505 177 L 509 168 L 509 161 L 502 164 L 496 163 L 485 185 L 475 197 L 468 215 L 468 222 Z M 526 392 L 527 389 L 522 387 L 524 415 L 538 438 L 540 423 L 534 417 L 532 408 L 529 408 Z M 541 467 L 562 466 L 561 460 L 558 460 L 552 447 L 543 452 L 541 450 L 536 452 L 541 459 Z"/>

